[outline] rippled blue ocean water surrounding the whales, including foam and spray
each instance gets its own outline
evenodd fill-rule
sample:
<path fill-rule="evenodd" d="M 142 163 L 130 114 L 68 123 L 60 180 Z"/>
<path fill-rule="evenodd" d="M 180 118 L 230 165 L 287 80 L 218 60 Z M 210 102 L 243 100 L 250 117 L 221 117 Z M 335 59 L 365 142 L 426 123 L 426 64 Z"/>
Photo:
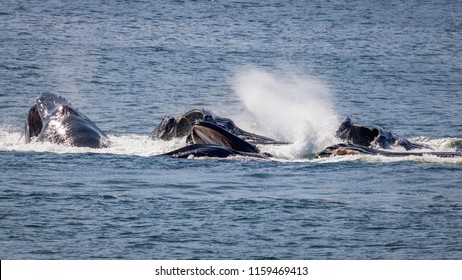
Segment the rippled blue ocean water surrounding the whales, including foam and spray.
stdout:
<path fill-rule="evenodd" d="M 461 259 L 462 159 L 316 159 L 349 116 L 462 150 L 458 1 L 0 1 L 1 259 Z M 42 92 L 113 144 L 25 144 Z M 171 159 L 206 108 L 269 160 Z"/>

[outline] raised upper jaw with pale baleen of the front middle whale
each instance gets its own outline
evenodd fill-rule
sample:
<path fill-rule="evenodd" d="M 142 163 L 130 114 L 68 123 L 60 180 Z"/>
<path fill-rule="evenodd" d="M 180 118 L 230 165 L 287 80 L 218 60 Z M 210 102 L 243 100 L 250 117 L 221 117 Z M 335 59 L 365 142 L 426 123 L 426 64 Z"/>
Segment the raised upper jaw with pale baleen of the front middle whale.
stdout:
<path fill-rule="evenodd" d="M 194 124 L 189 140 L 193 144 L 224 146 L 240 152 L 259 152 L 252 144 L 210 122 L 198 122 Z"/>

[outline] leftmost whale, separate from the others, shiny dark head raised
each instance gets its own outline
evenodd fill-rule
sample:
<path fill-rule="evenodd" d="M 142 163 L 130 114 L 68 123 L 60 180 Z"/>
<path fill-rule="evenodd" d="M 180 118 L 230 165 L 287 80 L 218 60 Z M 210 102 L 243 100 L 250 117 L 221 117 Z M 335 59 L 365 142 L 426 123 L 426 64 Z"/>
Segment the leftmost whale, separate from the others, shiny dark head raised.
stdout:
<path fill-rule="evenodd" d="M 62 96 L 41 94 L 27 113 L 26 143 L 47 141 L 75 147 L 104 148 L 109 138 Z"/>

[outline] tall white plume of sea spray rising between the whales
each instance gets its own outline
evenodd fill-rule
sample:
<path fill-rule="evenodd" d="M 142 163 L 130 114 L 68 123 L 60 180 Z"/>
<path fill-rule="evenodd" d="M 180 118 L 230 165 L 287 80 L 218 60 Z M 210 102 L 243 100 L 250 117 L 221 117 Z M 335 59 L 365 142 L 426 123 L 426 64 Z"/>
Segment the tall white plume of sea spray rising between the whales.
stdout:
<path fill-rule="evenodd" d="M 319 79 L 250 69 L 236 76 L 234 90 L 265 133 L 294 143 L 272 153 L 306 157 L 336 142 L 338 117 Z"/>

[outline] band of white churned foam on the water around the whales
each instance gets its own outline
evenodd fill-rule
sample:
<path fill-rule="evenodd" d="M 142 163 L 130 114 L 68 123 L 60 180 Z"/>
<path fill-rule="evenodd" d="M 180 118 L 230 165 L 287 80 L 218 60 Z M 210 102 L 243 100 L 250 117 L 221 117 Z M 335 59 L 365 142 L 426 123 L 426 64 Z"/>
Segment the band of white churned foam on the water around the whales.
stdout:
<path fill-rule="evenodd" d="M 0 152 L 47 152 L 57 154 L 68 153 L 95 153 L 95 154 L 115 154 L 128 156 L 149 157 L 154 155 L 170 152 L 174 149 L 185 146 L 185 139 L 176 139 L 172 141 L 155 141 L 149 138 L 148 135 L 114 135 L 109 134 L 112 145 L 103 149 L 77 148 L 51 143 L 32 142 L 24 143 L 24 139 L 20 132 L 0 129 Z M 462 150 L 462 139 L 460 138 L 414 138 L 413 142 L 429 146 L 432 150 L 429 151 L 460 151 Z M 263 147 L 264 148 L 264 147 Z M 329 158 L 302 158 L 289 157 L 288 154 L 296 153 L 297 144 L 287 146 L 273 146 L 272 148 L 264 148 L 264 151 L 273 153 L 276 161 L 289 162 L 318 162 L 318 163 L 335 163 L 342 161 L 361 161 L 361 162 L 397 162 L 397 161 L 415 161 L 434 164 L 454 164 L 461 165 L 462 158 L 440 158 L 431 155 L 424 156 L 403 156 L 403 157 L 386 157 L 378 155 L 346 155 Z M 277 154 L 278 153 L 278 154 Z"/>

